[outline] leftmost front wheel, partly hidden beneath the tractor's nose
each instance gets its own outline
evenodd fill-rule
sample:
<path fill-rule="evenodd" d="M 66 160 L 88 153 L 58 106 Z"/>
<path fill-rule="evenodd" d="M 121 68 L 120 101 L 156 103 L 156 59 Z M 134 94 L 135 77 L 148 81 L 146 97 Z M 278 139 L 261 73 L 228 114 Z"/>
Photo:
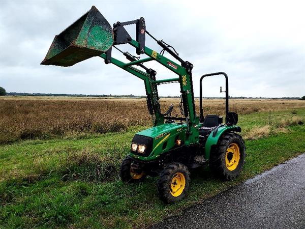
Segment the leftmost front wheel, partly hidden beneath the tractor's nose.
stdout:
<path fill-rule="evenodd" d="M 144 171 L 141 171 L 141 173 L 134 173 L 132 171 L 131 164 L 133 162 L 133 159 L 131 157 L 126 157 L 120 166 L 120 178 L 124 182 L 128 183 L 139 183 L 143 182 L 146 178 L 146 175 Z"/>

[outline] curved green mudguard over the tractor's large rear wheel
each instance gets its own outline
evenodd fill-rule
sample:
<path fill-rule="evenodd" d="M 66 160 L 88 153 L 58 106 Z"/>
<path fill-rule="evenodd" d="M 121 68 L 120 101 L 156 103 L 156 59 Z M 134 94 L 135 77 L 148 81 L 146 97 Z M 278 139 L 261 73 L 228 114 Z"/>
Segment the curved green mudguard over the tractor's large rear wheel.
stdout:
<path fill-rule="evenodd" d="M 212 131 L 205 142 L 205 159 L 209 160 L 212 146 L 216 146 L 221 135 L 223 135 L 223 133 L 227 131 L 240 132 L 241 129 L 239 126 L 236 125 L 220 125 L 214 131 Z"/>

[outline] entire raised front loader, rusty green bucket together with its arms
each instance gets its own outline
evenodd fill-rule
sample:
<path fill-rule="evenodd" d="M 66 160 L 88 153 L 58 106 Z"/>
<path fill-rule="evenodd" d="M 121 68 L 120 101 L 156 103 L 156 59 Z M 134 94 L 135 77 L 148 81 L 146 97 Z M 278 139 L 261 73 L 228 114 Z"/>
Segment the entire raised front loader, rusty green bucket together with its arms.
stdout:
<path fill-rule="evenodd" d="M 136 25 L 136 40 L 132 39 L 124 28 L 124 26 L 131 24 Z M 146 34 L 163 48 L 160 53 L 145 46 Z M 148 57 L 140 59 L 128 52 L 123 52 L 117 48 L 118 45 L 122 44 L 129 44 L 136 49 L 138 55 L 145 54 Z M 112 48 L 121 51 L 129 62 L 124 63 L 113 58 L 111 56 Z M 163 55 L 165 51 L 172 55 L 180 64 L 166 58 Z M 150 115 L 155 116 L 154 126 L 163 125 L 165 120 L 185 121 L 187 124 L 186 145 L 198 143 L 199 132 L 197 127 L 199 117 L 196 116 L 195 112 L 192 81 L 193 65 L 182 60 L 172 46 L 154 38 L 146 30 L 143 17 L 133 21 L 116 22 L 112 27 L 98 9 L 93 6 L 87 13 L 67 27 L 66 30 L 55 36 L 41 64 L 68 67 L 93 56 L 100 56 L 105 60 L 105 64 L 112 63 L 144 81 L 148 111 Z M 153 69 L 148 69 L 143 64 L 149 61 L 156 61 L 178 76 L 169 79 L 156 79 L 157 72 Z M 141 71 L 135 66 L 145 71 Z M 157 86 L 161 83 L 169 82 L 178 82 L 180 84 L 184 111 L 181 112 L 184 116 L 182 118 L 168 117 L 168 113 L 163 114 L 161 112 Z"/>

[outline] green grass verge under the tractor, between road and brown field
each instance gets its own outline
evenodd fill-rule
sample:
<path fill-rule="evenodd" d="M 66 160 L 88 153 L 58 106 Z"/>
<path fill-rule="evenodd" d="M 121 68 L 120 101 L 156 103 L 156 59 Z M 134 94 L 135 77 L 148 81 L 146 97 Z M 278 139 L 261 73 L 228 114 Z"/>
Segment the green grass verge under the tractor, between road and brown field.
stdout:
<path fill-rule="evenodd" d="M 24 227 L 146 227 L 216 195 L 266 169 L 305 152 L 305 125 L 283 120 L 305 109 L 254 113 L 240 117 L 244 135 L 270 126 L 268 137 L 246 140 L 247 157 L 241 176 L 231 182 L 212 177 L 208 168 L 192 171 L 189 195 L 164 205 L 157 178 L 124 184 L 118 178 L 120 160 L 130 139 L 142 129 L 93 135 L 83 139 L 27 140 L 0 147 L 0 228 Z M 282 129 L 279 129 L 281 127 Z M 246 132 L 245 132 L 246 131 Z"/>

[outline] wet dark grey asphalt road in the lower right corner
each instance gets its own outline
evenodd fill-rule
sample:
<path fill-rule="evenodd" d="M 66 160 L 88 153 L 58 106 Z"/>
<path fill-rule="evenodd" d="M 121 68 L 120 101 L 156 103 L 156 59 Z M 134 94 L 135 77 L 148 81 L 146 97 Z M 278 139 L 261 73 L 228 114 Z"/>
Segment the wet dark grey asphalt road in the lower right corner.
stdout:
<path fill-rule="evenodd" d="M 305 228 L 305 154 L 151 228 Z"/>

